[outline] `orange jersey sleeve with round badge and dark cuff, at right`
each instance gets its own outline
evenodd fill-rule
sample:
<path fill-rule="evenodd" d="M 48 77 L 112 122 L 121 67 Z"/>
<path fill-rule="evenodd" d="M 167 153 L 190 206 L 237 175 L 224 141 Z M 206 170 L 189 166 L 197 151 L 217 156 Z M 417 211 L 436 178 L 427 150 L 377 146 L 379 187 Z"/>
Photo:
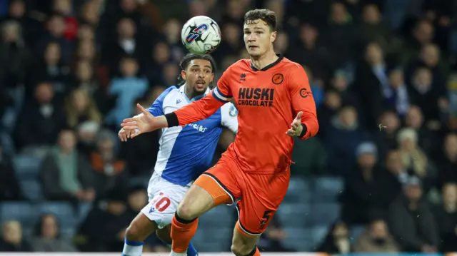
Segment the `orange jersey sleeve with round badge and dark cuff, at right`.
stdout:
<path fill-rule="evenodd" d="M 300 138 L 305 140 L 313 137 L 319 130 L 316 115 L 316 103 L 314 102 L 311 87 L 309 87 L 308 76 L 301 66 L 291 71 L 291 78 L 288 79 L 289 91 L 291 92 L 292 109 L 295 113 L 303 112 L 301 123 L 304 125 Z M 306 130 L 305 130 L 306 129 Z"/>

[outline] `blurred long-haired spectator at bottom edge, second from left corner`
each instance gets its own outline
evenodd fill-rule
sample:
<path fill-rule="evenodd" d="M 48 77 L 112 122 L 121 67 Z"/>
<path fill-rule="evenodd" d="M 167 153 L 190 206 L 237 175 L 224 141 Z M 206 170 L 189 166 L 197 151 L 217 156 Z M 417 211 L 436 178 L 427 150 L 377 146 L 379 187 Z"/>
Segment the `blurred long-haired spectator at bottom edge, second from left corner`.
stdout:
<path fill-rule="evenodd" d="M 76 248 L 61 237 L 59 222 L 53 214 L 41 215 L 30 242 L 34 252 L 76 252 Z"/>

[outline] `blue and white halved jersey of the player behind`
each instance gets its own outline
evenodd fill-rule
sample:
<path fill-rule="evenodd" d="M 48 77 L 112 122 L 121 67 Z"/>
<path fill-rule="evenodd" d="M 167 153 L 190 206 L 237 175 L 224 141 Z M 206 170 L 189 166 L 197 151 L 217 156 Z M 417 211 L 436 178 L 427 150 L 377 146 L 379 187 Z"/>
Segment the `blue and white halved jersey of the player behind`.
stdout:
<path fill-rule="evenodd" d="M 202 98 L 187 98 L 184 87 L 168 88 L 148 108 L 149 113 L 162 116 Z M 232 103 L 226 103 L 212 116 L 199 122 L 162 129 L 154 172 L 171 183 L 189 185 L 210 167 L 224 127 L 234 133 L 238 130 L 238 111 Z"/>

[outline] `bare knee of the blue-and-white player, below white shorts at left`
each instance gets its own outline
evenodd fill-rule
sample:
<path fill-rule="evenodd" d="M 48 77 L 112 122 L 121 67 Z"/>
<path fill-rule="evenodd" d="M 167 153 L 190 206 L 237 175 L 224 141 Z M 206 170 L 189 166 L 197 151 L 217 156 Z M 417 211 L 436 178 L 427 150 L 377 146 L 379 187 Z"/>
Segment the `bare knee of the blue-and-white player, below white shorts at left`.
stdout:
<path fill-rule="evenodd" d="M 144 213 L 139 213 L 134 220 L 130 222 L 129 227 L 127 227 L 126 239 L 143 241 L 155 230 L 157 230 L 157 223 L 149 220 Z"/>

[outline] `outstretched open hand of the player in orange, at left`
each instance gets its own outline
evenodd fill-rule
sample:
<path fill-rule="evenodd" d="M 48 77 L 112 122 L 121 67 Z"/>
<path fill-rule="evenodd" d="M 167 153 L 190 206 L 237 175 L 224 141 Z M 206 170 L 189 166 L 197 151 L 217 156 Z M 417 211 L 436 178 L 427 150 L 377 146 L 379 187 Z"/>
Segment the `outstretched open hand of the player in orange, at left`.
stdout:
<path fill-rule="evenodd" d="M 121 123 L 121 127 L 124 130 L 130 130 L 130 138 L 135 138 L 140 134 L 150 133 L 161 128 L 158 118 L 152 116 L 140 104 L 136 104 L 136 106 L 141 110 L 141 114 L 133 118 L 126 118 L 124 119 L 124 123 Z"/>

